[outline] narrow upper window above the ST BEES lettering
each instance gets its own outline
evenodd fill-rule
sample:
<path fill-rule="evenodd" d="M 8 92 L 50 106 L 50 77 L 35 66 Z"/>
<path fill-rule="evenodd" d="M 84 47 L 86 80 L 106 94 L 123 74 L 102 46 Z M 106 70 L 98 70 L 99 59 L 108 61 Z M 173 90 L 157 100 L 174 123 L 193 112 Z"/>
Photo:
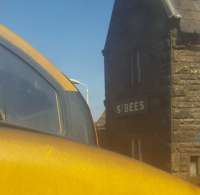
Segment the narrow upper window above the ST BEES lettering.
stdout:
<path fill-rule="evenodd" d="M 141 67 L 141 54 L 137 50 L 133 55 L 131 55 L 131 86 L 135 86 L 142 82 L 142 67 Z"/>

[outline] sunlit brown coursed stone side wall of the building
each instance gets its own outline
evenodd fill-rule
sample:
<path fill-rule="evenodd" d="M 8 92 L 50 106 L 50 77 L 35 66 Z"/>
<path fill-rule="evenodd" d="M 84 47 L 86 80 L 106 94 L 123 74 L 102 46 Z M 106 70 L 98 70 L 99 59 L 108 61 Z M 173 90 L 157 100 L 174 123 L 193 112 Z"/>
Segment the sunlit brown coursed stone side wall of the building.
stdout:
<path fill-rule="evenodd" d="M 190 179 L 192 156 L 200 156 L 200 46 L 172 49 L 172 173 Z"/>

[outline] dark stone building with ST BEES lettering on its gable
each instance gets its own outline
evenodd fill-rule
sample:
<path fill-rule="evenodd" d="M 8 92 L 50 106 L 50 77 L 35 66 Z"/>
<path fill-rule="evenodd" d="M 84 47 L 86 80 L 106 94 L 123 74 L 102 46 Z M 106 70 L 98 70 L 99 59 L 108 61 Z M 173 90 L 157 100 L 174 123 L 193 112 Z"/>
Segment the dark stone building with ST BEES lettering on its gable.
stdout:
<path fill-rule="evenodd" d="M 116 0 L 103 50 L 104 147 L 200 176 L 200 0 Z"/>

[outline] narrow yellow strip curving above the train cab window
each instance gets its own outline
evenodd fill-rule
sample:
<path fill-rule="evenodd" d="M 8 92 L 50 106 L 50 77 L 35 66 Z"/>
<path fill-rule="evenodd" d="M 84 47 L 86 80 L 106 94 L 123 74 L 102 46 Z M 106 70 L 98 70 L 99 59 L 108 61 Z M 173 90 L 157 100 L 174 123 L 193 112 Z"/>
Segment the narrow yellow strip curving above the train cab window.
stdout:
<path fill-rule="evenodd" d="M 45 71 L 47 71 L 63 88 L 67 91 L 77 91 L 76 87 L 67 79 L 53 64 L 51 64 L 41 53 L 31 47 L 26 41 L 21 39 L 8 28 L 0 25 L 0 37 L 10 42 L 15 47 L 22 50 L 32 58 Z"/>

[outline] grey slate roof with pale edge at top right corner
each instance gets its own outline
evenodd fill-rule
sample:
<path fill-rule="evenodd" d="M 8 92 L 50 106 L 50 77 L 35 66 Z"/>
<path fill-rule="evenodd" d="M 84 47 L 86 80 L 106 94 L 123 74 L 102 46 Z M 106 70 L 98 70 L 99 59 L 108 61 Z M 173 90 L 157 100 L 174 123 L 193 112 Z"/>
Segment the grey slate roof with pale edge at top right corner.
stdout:
<path fill-rule="evenodd" d="M 180 30 L 200 34 L 200 0 L 162 0 L 168 16 L 180 18 Z"/>

